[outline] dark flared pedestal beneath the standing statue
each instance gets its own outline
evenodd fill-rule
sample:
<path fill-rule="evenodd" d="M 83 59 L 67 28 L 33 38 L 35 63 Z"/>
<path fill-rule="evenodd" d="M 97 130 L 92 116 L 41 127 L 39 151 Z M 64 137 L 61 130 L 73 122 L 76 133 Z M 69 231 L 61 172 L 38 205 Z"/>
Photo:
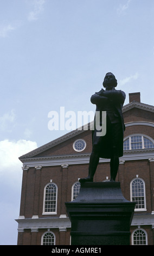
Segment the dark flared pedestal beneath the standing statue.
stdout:
<path fill-rule="evenodd" d="M 134 206 L 120 182 L 82 183 L 78 198 L 66 203 L 71 245 L 130 245 Z"/>

